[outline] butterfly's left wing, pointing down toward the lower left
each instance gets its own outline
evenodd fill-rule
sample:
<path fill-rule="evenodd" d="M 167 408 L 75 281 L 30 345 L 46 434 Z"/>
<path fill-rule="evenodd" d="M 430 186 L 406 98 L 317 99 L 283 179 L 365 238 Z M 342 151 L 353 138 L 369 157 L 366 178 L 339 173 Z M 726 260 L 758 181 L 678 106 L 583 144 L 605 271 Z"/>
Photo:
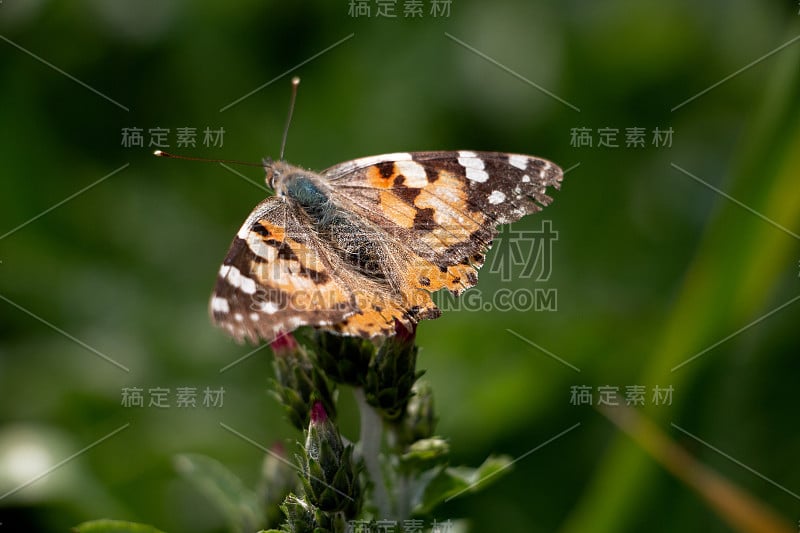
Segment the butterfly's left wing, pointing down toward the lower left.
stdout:
<path fill-rule="evenodd" d="M 270 197 L 231 243 L 211 297 L 211 317 L 239 341 L 271 341 L 302 325 L 346 320 L 357 311 L 348 283 L 347 269 L 291 205 Z"/>

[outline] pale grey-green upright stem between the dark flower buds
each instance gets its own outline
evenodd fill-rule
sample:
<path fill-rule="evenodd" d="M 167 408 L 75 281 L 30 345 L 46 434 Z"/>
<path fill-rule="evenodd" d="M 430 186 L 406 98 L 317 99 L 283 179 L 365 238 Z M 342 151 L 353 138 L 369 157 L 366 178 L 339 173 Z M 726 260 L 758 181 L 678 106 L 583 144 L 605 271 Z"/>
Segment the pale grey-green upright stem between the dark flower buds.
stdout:
<path fill-rule="evenodd" d="M 391 518 L 391 503 L 386 492 L 386 483 L 383 479 L 383 470 L 379 455 L 381 452 L 381 437 L 383 436 L 383 421 L 380 415 L 368 403 L 364 395 L 364 390 L 357 388 L 353 391 L 358 403 L 358 411 L 361 416 L 361 430 L 359 444 L 361 447 L 361 457 L 364 459 L 364 466 L 372 482 L 372 498 L 375 507 L 378 509 L 379 519 Z"/>

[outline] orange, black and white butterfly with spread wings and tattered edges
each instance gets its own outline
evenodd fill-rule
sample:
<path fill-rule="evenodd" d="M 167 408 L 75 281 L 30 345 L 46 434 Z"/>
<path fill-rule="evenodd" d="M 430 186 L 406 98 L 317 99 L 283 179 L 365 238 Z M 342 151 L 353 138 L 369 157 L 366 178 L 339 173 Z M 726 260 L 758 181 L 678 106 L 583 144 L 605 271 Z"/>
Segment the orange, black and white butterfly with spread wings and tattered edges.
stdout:
<path fill-rule="evenodd" d="M 467 150 L 264 168 L 275 195 L 234 237 L 210 302 L 239 341 L 301 326 L 372 338 L 437 318 L 431 294 L 475 285 L 497 226 L 549 205 L 563 177 L 538 157 Z"/>

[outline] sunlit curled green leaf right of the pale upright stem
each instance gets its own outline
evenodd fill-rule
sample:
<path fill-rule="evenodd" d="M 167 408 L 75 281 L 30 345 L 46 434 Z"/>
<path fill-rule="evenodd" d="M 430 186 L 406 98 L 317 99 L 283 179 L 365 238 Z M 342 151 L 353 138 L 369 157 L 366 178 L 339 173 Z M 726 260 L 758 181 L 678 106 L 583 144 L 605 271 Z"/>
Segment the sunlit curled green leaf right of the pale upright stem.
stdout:
<path fill-rule="evenodd" d="M 423 473 L 415 486 L 412 501 L 415 514 L 428 514 L 437 505 L 462 494 L 484 488 L 509 471 L 512 460 L 506 455 L 490 455 L 478 468 L 465 466 L 437 468 Z"/>

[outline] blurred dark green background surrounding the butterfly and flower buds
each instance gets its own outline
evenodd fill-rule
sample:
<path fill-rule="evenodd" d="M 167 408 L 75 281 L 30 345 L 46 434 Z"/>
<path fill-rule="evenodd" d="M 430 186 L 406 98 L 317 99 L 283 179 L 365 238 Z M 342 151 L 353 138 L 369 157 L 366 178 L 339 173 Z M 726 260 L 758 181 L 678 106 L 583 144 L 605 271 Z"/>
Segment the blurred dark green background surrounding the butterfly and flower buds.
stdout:
<path fill-rule="evenodd" d="M 268 350 L 220 373 L 252 348 L 206 310 L 264 193 L 216 164 L 152 157 L 148 130 L 169 128 L 168 149 L 185 155 L 277 157 L 291 75 L 280 76 L 351 34 L 292 71 L 303 82 L 290 162 L 473 149 L 571 168 L 555 203 L 515 225 L 552 221 L 550 279 L 486 269 L 479 285 L 484 296 L 555 289 L 557 309 L 454 309 L 418 341 L 454 463 L 520 457 L 580 425 L 437 519 L 474 531 L 728 531 L 593 407 L 570 403 L 573 386 L 593 387 L 594 403 L 598 386 L 617 386 L 624 403 L 625 387 L 642 385 L 643 414 L 796 529 L 800 42 L 680 104 L 800 35 L 800 6 L 453 0 L 433 17 L 431 3 L 411 20 L 402 0 L 395 19 L 376 18 L 375 2 L 371 17 L 350 16 L 347 0 L 0 2 L 0 531 L 101 517 L 224 531 L 174 454 L 208 454 L 253 485 L 263 453 L 220 422 L 265 446 L 298 438 L 267 393 Z M 122 146 L 134 127 L 145 146 Z M 177 147 L 184 127 L 197 128 L 195 148 Z M 224 129 L 222 147 L 203 145 L 206 127 Z M 644 147 L 625 147 L 634 127 Z M 573 128 L 590 128 L 594 146 L 574 146 Z M 619 147 L 597 146 L 600 128 L 617 129 Z M 653 146 L 655 128 L 672 128 L 671 146 Z M 655 386 L 673 387 L 671 405 L 651 405 Z M 173 406 L 124 407 L 125 387 L 170 388 Z M 177 408 L 178 387 L 224 388 L 224 404 Z"/>

